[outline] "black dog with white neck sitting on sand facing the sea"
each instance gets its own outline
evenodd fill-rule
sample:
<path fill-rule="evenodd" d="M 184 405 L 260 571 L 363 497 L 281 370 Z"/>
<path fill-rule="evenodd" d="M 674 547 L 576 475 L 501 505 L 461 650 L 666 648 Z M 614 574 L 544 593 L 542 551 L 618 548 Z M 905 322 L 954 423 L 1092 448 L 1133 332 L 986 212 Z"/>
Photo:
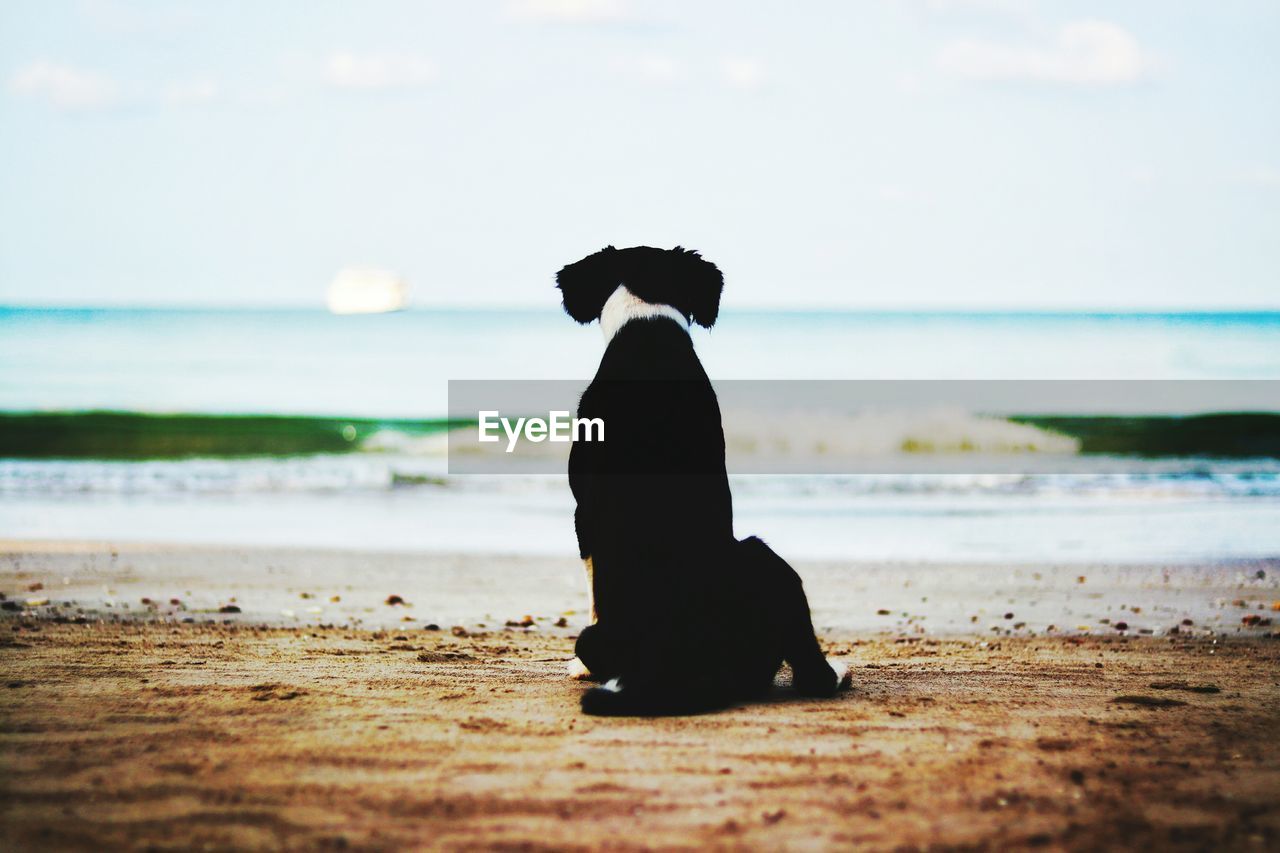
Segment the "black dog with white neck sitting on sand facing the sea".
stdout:
<path fill-rule="evenodd" d="M 698 252 L 595 252 L 556 277 L 564 311 L 599 320 L 605 350 L 579 401 L 605 441 L 575 441 L 568 479 L 591 624 L 571 675 L 602 716 L 714 711 L 767 693 L 783 661 L 809 697 L 850 685 L 814 635 L 800 576 L 755 537 L 736 539 L 724 430 L 694 352 L 723 277 Z"/>

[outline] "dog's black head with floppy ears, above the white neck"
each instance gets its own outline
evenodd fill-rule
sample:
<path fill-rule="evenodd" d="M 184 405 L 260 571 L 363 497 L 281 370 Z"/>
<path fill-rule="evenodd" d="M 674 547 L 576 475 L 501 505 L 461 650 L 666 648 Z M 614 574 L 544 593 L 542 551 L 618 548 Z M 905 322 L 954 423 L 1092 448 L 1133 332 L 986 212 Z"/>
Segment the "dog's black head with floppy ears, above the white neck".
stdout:
<path fill-rule="evenodd" d="M 645 302 L 669 305 L 709 329 L 719 313 L 724 277 L 716 264 L 680 246 L 608 246 L 556 274 L 564 311 L 579 323 L 599 319 L 604 302 L 620 284 Z"/>

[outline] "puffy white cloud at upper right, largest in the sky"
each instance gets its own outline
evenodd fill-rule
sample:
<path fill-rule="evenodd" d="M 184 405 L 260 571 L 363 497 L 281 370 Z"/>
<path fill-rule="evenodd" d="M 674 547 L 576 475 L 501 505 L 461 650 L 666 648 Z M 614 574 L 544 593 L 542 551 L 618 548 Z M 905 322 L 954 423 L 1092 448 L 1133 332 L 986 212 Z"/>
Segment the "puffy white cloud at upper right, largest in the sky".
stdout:
<path fill-rule="evenodd" d="M 1034 81 L 1116 86 L 1146 77 L 1151 58 L 1124 28 L 1106 20 L 1078 20 L 1050 45 L 1007 45 L 973 38 L 951 42 L 938 68 L 966 79 Z"/>

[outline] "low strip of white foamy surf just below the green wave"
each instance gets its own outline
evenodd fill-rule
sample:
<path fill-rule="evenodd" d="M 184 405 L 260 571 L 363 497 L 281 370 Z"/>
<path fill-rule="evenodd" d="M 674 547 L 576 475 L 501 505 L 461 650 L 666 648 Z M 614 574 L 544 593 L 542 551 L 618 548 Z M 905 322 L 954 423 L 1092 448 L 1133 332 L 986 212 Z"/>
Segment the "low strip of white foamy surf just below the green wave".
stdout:
<path fill-rule="evenodd" d="M 1048 474 L 786 474 L 731 475 L 735 498 L 786 501 L 797 511 L 842 498 L 1280 498 L 1280 460 L 1129 460 L 1114 470 Z M 294 459 L 198 459 L 120 462 L 0 460 L 0 498 L 234 497 L 248 494 L 561 496 L 563 473 L 518 476 L 449 475 L 443 459 L 387 453 Z"/>

